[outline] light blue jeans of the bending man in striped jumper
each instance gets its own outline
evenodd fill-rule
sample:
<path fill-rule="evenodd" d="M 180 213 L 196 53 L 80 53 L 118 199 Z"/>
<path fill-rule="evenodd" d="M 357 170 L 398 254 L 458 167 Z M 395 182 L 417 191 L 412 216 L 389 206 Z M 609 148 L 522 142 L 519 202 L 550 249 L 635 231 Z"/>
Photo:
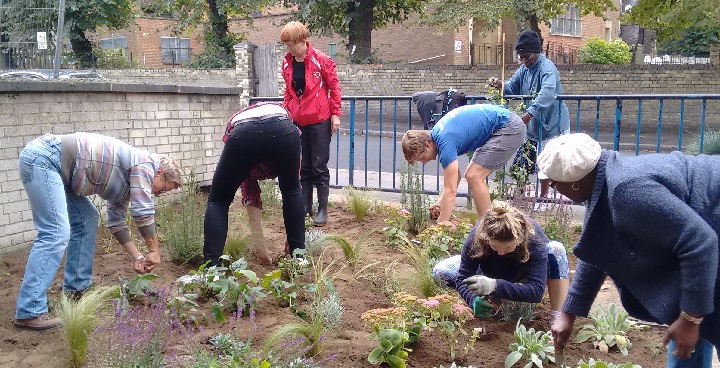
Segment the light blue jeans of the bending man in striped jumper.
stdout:
<path fill-rule="evenodd" d="M 20 286 L 15 318 L 47 313 L 47 289 L 63 254 L 66 291 L 90 286 L 100 215 L 87 197 L 66 193 L 60 177 L 60 141 L 46 134 L 20 152 L 20 178 L 30 201 L 37 237 Z"/>

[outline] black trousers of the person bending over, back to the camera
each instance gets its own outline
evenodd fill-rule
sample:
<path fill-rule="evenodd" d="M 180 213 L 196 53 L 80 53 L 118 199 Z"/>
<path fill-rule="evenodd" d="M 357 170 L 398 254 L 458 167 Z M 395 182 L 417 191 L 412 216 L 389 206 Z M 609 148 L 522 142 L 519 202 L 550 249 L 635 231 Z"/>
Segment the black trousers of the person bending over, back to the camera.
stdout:
<path fill-rule="evenodd" d="M 205 260 L 218 263 L 228 232 L 228 209 L 240 183 L 255 165 L 263 162 L 278 174 L 283 200 L 283 220 L 292 252 L 305 247 L 305 204 L 302 199 L 300 134 L 288 119 L 268 118 L 233 128 L 213 175 L 205 211 Z"/>

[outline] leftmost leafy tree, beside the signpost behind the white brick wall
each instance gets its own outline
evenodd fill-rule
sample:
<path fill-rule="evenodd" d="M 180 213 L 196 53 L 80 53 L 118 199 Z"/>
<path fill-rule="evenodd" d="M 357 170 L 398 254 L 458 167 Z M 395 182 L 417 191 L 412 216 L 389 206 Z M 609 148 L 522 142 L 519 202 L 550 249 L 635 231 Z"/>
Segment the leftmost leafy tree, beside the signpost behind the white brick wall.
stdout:
<path fill-rule="evenodd" d="M 135 19 L 135 0 L 66 0 L 65 31 L 76 62 L 80 67 L 92 65 L 92 43 L 86 32 L 100 28 L 118 30 L 126 28 Z"/>

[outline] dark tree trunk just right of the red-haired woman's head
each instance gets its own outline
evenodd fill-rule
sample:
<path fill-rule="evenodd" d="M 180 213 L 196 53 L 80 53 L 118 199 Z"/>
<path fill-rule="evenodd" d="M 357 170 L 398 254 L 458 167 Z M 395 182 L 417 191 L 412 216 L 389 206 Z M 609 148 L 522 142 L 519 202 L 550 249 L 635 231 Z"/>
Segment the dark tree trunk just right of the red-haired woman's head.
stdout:
<path fill-rule="evenodd" d="M 348 51 L 350 62 L 354 64 L 369 63 L 372 57 L 372 24 L 375 0 L 360 0 L 348 6 L 350 16 Z M 354 52 L 353 52 L 354 48 Z"/>

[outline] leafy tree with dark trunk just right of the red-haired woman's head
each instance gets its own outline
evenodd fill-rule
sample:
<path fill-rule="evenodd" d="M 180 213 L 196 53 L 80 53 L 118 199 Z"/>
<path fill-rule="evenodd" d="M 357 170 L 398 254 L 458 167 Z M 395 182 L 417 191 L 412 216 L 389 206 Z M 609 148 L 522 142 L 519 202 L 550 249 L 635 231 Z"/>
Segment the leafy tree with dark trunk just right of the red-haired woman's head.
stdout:
<path fill-rule="evenodd" d="M 372 61 L 372 30 L 402 23 L 422 11 L 426 0 L 289 0 L 295 18 L 313 32 L 347 37 L 352 63 Z"/>

